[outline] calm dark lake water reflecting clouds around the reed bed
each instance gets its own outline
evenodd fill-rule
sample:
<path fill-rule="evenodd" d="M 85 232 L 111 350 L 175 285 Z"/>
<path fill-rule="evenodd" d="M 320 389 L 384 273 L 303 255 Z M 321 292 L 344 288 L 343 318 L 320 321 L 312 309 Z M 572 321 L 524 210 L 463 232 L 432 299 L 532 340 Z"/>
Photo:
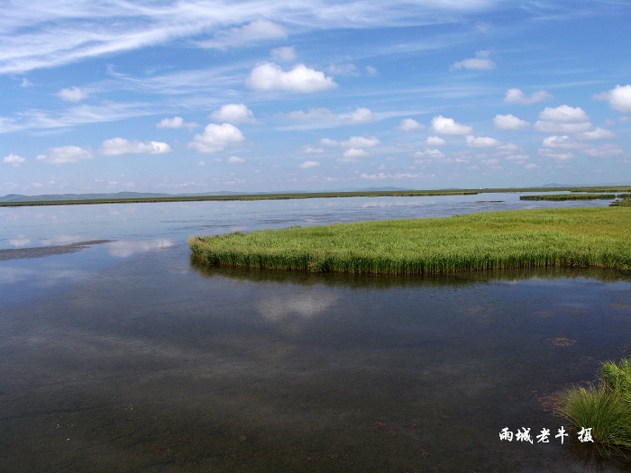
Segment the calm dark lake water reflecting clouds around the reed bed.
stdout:
<path fill-rule="evenodd" d="M 197 233 L 608 205 L 517 195 L 0 208 L 0 471 L 630 471 L 553 414 L 631 275 L 197 267 Z M 81 244 L 86 241 L 100 241 Z M 500 441 L 508 427 L 534 443 Z M 536 441 L 543 429 L 550 441 Z"/>

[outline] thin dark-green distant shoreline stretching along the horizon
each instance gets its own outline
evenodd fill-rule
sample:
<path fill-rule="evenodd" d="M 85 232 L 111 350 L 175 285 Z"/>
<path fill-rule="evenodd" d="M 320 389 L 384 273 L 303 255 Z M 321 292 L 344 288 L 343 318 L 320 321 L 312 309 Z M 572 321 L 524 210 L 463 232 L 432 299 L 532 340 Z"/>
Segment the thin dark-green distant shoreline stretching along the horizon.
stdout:
<path fill-rule="evenodd" d="M 334 197 L 422 197 L 422 196 L 474 196 L 477 194 L 528 193 L 528 192 L 589 192 L 618 193 L 631 192 L 631 186 L 569 186 L 569 187 L 509 187 L 483 189 L 445 190 L 384 190 L 349 192 L 295 192 L 278 194 L 230 194 L 220 196 L 148 196 L 122 198 L 77 198 L 65 200 L 22 200 L 0 201 L 0 207 L 26 207 L 38 205 L 99 205 L 99 204 L 147 204 L 160 202 L 204 202 L 204 201 L 250 201 L 286 200 Z"/>

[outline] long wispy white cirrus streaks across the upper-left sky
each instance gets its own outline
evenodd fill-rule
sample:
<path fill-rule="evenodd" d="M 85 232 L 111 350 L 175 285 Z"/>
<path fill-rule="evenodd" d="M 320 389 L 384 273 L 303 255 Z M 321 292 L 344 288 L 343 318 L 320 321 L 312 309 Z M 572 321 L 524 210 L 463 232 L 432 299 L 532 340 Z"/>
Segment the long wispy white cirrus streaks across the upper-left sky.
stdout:
<path fill-rule="evenodd" d="M 3 7 L 0 74 L 53 68 L 168 41 L 196 38 L 206 48 L 239 47 L 279 39 L 292 30 L 377 28 L 453 22 L 449 15 L 488 9 L 498 0 L 405 0 L 303 4 L 207 3 L 201 0 L 135 3 L 114 0 L 38 2 Z M 208 37 L 207 40 L 199 39 Z"/>

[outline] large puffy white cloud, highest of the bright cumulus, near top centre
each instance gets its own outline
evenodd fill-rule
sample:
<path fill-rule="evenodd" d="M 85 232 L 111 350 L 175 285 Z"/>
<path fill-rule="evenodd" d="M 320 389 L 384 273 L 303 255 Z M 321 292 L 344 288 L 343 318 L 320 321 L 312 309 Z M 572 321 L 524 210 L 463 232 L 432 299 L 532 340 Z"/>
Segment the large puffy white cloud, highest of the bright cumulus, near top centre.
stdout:
<path fill-rule="evenodd" d="M 304 64 L 285 72 L 271 62 L 259 64 L 252 69 L 245 81 L 246 86 L 257 90 L 288 90 L 291 92 L 319 92 L 335 88 L 333 78 Z"/>

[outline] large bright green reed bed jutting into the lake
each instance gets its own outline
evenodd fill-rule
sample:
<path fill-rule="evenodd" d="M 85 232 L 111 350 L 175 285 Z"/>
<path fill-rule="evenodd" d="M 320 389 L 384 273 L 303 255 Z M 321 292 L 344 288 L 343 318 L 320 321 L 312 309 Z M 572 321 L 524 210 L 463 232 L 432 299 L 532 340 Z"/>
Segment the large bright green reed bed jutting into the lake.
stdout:
<path fill-rule="evenodd" d="M 501 211 L 195 236 L 211 265 L 433 274 L 544 266 L 631 268 L 631 208 Z"/>

